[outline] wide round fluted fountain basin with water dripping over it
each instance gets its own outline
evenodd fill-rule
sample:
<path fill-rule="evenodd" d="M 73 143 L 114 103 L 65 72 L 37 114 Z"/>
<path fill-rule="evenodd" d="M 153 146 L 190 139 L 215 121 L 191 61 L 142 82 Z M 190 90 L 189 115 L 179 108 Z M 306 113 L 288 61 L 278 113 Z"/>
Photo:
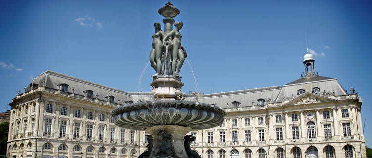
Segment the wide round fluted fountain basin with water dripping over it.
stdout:
<path fill-rule="evenodd" d="M 226 112 L 218 106 L 183 100 L 154 100 L 123 105 L 112 111 L 120 127 L 146 130 L 159 125 L 178 125 L 192 130 L 222 123 Z"/>

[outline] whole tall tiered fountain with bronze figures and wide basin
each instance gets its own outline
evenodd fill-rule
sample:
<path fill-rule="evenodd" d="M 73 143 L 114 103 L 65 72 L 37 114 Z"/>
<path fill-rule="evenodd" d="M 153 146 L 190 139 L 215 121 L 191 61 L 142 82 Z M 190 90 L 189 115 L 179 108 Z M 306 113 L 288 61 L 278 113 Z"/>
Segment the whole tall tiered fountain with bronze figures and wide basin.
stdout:
<path fill-rule="evenodd" d="M 222 123 L 225 111 L 218 106 L 184 101 L 183 83 L 179 75 L 187 57 L 181 45 L 182 22 L 174 23 L 179 10 L 168 2 L 159 9 L 163 15 L 165 31 L 155 23 L 153 49 L 150 63 L 156 74 L 150 85 L 152 101 L 126 104 L 112 111 L 114 122 L 120 127 L 146 130 L 148 151 L 138 158 L 200 158 L 192 151 L 190 142 L 195 139 L 186 135 L 191 130 L 207 129 Z M 173 24 L 175 29 L 172 30 Z"/>

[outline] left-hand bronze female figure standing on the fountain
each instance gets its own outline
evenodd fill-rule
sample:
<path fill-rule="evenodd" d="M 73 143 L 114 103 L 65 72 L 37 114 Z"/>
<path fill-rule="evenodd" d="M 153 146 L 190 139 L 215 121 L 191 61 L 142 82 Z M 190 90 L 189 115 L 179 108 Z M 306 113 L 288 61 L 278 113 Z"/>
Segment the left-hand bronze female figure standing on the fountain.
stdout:
<path fill-rule="evenodd" d="M 162 49 L 163 49 L 163 36 L 164 32 L 162 31 L 162 28 L 160 26 L 160 23 L 156 22 L 154 24 L 155 27 L 155 33 L 153 34 L 153 48 L 151 49 L 150 52 L 150 63 L 151 67 L 154 68 L 156 71 L 156 74 L 154 76 L 158 76 L 161 72 L 162 69 L 162 61 L 161 61 L 161 56 L 162 56 Z"/>

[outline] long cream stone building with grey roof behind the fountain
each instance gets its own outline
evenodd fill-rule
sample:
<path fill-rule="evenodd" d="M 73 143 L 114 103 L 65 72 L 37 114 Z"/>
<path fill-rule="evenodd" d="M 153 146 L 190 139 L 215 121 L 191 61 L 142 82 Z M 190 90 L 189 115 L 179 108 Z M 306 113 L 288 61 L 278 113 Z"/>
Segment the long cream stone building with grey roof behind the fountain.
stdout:
<path fill-rule="evenodd" d="M 305 73 L 283 86 L 214 94 L 185 100 L 227 112 L 220 126 L 191 131 L 191 148 L 203 158 L 365 158 L 362 99 L 337 79 L 319 76 L 314 58 Z M 13 158 L 135 158 L 146 150 L 144 131 L 112 123 L 110 112 L 150 93 L 125 92 L 47 71 L 9 104 L 7 154 Z"/>

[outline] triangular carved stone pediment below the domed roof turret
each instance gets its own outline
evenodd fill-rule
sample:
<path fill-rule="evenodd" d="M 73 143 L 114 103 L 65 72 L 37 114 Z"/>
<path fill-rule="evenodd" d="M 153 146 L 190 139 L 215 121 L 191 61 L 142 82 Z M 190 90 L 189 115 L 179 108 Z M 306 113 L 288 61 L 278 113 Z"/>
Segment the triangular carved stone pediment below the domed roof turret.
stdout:
<path fill-rule="evenodd" d="M 313 94 L 313 93 L 305 93 L 300 96 L 293 98 L 291 101 L 287 102 L 284 105 L 301 105 L 301 104 L 313 104 L 313 103 L 322 103 L 322 102 L 330 102 L 335 101 L 334 99 Z"/>

